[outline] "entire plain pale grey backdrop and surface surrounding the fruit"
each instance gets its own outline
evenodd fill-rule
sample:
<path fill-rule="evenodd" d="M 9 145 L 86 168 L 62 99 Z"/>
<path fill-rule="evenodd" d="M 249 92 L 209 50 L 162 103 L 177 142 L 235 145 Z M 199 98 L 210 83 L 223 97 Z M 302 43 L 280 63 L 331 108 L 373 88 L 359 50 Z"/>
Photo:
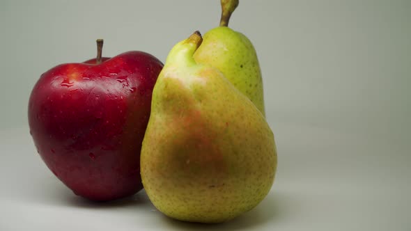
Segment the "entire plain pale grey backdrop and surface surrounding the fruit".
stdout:
<path fill-rule="evenodd" d="M 0 230 L 410 230 L 411 1 L 240 1 L 279 166 L 256 209 L 223 225 L 173 221 L 144 191 L 99 205 L 42 163 L 27 125 L 54 65 L 141 50 L 165 61 L 219 1 L 0 1 Z"/>

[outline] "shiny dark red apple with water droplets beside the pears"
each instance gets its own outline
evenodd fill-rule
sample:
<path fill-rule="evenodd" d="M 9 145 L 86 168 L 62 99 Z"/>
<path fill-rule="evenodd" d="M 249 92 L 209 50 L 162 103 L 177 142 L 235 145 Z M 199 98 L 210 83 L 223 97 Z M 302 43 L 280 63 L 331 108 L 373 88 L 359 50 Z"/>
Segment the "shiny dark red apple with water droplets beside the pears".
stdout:
<path fill-rule="evenodd" d="M 142 189 L 141 142 L 163 64 L 142 51 L 48 70 L 29 99 L 40 157 L 74 193 L 114 200 Z"/>

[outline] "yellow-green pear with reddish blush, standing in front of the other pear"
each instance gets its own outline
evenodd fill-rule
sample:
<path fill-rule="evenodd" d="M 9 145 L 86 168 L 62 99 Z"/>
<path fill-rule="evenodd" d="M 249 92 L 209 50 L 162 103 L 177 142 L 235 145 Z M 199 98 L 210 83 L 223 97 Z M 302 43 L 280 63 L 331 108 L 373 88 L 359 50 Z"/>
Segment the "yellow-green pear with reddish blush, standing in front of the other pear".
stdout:
<path fill-rule="evenodd" d="M 166 58 L 153 90 L 141 177 L 166 216 L 221 223 L 267 196 L 277 151 L 261 111 L 222 72 L 194 61 L 200 43 L 194 33 Z"/>

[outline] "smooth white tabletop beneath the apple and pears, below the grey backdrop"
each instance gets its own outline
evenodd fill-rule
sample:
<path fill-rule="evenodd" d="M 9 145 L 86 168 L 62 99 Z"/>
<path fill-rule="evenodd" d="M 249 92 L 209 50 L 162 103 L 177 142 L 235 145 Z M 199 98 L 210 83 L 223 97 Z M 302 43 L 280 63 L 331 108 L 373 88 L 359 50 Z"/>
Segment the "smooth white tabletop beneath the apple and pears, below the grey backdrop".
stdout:
<path fill-rule="evenodd" d="M 279 157 L 272 191 L 220 225 L 167 218 L 144 191 L 106 203 L 79 198 L 43 164 L 26 127 L 3 130 L 0 230 L 410 230 L 409 145 L 308 125 L 272 127 Z"/>

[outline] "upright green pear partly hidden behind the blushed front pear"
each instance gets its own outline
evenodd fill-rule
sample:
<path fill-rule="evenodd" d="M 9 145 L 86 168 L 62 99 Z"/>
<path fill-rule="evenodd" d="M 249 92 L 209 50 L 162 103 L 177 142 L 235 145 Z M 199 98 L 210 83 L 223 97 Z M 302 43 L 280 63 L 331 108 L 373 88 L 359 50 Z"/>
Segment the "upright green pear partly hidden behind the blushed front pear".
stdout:
<path fill-rule="evenodd" d="M 263 80 L 256 50 L 245 35 L 228 28 L 228 21 L 238 6 L 238 1 L 221 0 L 220 26 L 203 36 L 203 43 L 194 53 L 194 60 L 220 70 L 265 114 Z"/>

